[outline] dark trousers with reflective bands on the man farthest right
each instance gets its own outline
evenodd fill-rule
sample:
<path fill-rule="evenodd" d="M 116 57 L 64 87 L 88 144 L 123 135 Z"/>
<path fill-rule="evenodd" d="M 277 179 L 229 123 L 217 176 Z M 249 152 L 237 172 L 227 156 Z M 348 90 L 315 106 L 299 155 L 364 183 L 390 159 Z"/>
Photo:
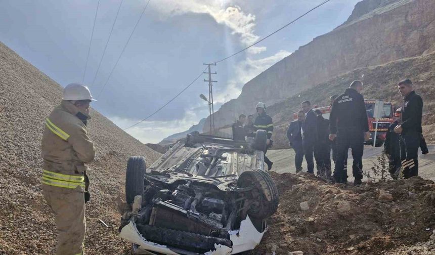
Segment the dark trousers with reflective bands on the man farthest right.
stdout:
<path fill-rule="evenodd" d="M 401 138 L 403 141 L 400 144 L 403 177 L 408 179 L 418 176 L 418 148 L 420 147 L 421 133 L 410 131 L 401 134 Z"/>

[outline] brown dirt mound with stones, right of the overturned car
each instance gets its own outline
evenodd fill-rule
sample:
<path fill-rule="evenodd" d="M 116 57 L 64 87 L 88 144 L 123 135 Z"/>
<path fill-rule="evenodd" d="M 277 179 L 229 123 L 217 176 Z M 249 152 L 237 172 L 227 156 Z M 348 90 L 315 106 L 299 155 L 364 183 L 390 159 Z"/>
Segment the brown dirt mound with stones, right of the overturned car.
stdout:
<path fill-rule="evenodd" d="M 435 242 L 428 242 L 435 228 L 432 181 L 414 177 L 353 187 L 330 185 L 303 173 L 271 174 L 280 204 L 269 221 L 269 232 L 250 254 L 435 251 Z M 308 209 L 303 202 L 308 202 Z M 422 253 L 406 253 L 410 250 Z"/>

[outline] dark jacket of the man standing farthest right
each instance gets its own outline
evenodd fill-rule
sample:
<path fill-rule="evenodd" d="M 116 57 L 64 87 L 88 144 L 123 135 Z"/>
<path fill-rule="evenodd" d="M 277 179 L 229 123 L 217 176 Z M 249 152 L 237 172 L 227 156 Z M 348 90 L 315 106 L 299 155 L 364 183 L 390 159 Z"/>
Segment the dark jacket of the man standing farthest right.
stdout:
<path fill-rule="evenodd" d="M 423 114 L 423 100 L 415 91 L 405 97 L 402 106 L 402 134 L 410 131 L 422 133 L 421 117 Z"/>

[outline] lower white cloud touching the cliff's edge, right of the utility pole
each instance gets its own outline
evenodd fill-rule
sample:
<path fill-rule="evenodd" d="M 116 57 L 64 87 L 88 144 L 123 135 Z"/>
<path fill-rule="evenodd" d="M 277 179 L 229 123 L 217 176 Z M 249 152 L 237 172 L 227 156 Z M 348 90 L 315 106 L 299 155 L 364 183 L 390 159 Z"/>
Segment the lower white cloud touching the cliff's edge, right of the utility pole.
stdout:
<path fill-rule="evenodd" d="M 217 103 L 225 103 L 231 99 L 237 98 L 246 82 L 290 54 L 291 52 L 281 50 L 275 55 L 266 58 L 251 59 L 248 57 L 246 60 L 241 61 L 236 65 L 235 75 L 228 81 L 227 88 L 225 91 L 218 93 L 215 97 L 215 101 Z"/>

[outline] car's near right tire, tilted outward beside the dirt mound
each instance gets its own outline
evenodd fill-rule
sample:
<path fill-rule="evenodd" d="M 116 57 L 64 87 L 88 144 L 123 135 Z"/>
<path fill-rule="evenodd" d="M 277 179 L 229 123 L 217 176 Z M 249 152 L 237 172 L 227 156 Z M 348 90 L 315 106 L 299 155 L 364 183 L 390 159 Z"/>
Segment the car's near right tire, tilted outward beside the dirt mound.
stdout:
<path fill-rule="evenodd" d="M 237 185 L 241 188 L 254 185 L 251 191 L 253 204 L 248 209 L 248 215 L 255 219 L 267 219 L 271 217 L 278 208 L 279 194 L 272 177 L 260 169 L 252 169 L 243 172 Z"/>

